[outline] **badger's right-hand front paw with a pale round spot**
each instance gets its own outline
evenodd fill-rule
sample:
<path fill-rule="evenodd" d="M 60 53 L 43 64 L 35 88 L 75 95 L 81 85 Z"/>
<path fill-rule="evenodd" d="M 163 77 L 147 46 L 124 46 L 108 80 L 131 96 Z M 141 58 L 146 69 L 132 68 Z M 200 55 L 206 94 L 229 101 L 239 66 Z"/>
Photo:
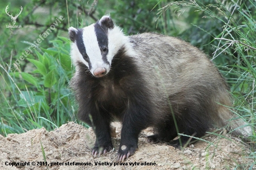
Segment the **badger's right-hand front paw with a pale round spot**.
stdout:
<path fill-rule="evenodd" d="M 124 159 L 128 159 L 129 156 L 133 155 L 135 151 L 138 149 L 138 146 L 126 146 L 120 145 L 118 153 L 117 153 L 117 161 L 123 162 Z"/>

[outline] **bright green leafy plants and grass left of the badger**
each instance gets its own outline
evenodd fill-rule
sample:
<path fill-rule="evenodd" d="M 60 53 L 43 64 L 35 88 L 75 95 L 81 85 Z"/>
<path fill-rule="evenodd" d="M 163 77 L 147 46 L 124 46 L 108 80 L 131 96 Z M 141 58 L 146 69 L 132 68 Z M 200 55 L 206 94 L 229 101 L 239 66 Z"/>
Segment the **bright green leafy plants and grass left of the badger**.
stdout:
<path fill-rule="evenodd" d="M 52 130 L 76 121 L 74 98 L 68 89 L 72 75 L 69 39 L 56 38 L 53 48 L 36 51 L 31 73 L 11 71 L 0 64 L 0 132 L 22 133 L 45 127 Z"/>

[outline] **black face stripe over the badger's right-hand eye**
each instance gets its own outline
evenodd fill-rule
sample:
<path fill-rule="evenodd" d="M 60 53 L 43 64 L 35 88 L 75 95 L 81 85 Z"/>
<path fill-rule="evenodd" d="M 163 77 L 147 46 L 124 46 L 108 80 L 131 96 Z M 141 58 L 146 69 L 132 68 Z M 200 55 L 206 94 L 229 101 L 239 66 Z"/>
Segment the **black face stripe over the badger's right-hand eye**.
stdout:
<path fill-rule="evenodd" d="M 97 37 L 99 47 L 101 49 L 101 56 L 104 63 L 109 64 L 107 60 L 108 55 L 108 28 L 105 25 L 100 25 L 96 22 L 94 25 L 94 31 Z"/>

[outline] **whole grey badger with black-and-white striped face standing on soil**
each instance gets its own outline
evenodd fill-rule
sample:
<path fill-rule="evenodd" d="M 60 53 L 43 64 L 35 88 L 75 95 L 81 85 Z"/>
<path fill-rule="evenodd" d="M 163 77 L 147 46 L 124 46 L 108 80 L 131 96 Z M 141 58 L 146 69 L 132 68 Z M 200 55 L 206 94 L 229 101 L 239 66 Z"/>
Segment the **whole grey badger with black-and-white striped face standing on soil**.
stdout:
<path fill-rule="evenodd" d="M 178 38 L 157 33 L 126 36 L 110 16 L 68 29 L 75 73 L 70 81 L 78 118 L 92 126 L 92 154 L 113 149 L 110 123 L 122 124 L 117 159 L 133 155 L 139 133 L 153 127 L 148 142 L 184 145 L 211 127 L 248 137 L 251 128 L 234 120 L 224 78 L 207 56 Z M 240 126 L 243 126 L 239 128 Z M 178 140 L 173 140 L 183 133 Z"/>

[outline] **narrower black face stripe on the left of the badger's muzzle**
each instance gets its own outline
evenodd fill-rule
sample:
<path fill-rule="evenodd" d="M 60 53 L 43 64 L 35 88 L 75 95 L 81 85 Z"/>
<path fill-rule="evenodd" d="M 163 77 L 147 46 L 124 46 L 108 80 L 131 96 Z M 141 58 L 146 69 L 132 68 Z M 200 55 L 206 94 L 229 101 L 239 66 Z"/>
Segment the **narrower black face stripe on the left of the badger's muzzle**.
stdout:
<path fill-rule="evenodd" d="M 83 29 L 77 29 L 76 45 L 77 45 L 79 52 L 83 56 L 84 60 L 88 63 L 89 69 L 91 69 L 92 64 L 91 64 L 90 59 L 86 53 L 86 49 L 85 49 L 84 42 L 83 42 Z"/>

